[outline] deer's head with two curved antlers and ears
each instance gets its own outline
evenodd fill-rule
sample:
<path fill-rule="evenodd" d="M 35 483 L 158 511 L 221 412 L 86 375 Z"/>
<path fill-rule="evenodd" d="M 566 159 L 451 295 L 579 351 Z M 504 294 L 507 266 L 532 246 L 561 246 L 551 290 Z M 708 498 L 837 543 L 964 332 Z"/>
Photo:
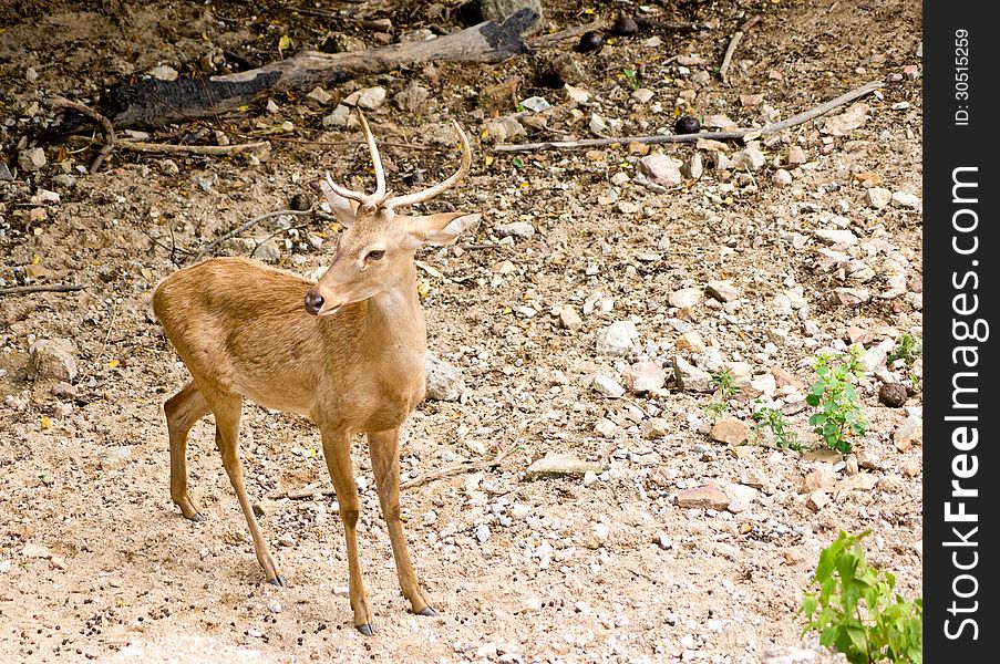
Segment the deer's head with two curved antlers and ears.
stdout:
<path fill-rule="evenodd" d="M 413 253 L 420 247 L 450 245 L 480 220 L 480 215 L 467 212 L 413 216 L 395 211 L 442 194 L 468 173 L 472 152 L 457 122 L 455 129 L 462 142 L 458 170 L 427 189 L 392 196 L 385 190 L 385 172 L 368 121 L 360 111 L 358 118 L 375 168 L 375 191 L 369 195 L 346 189 L 334 184 L 330 174 L 320 184 L 344 231 L 330 268 L 306 293 L 306 310 L 316 315 L 329 315 L 344 304 L 367 300 L 399 283 L 412 274 Z"/>

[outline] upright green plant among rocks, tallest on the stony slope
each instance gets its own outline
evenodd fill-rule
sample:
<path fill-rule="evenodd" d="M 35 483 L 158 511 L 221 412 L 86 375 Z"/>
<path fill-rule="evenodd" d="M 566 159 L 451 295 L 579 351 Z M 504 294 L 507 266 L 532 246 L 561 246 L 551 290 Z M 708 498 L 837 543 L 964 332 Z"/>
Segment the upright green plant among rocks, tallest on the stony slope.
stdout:
<path fill-rule="evenodd" d="M 819 408 L 810 417 L 810 426 L 826 444 L 838 452 L 850 452 L 847 436 L 864 435 L 868 421 L 862 413 L 854 378 L 862 373 L 859 363 L 864 350 L 852 346 L 846 355 L 823 353 L 813 363 L 816 382 L 805 397 L 808 405 Z"/>

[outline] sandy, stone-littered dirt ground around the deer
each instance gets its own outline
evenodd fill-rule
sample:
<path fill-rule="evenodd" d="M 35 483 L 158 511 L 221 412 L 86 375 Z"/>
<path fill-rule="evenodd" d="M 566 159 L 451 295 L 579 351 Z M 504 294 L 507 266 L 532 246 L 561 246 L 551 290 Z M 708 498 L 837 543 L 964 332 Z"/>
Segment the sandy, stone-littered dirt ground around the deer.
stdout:
<path fill-rule="evenodd" d="M 920 594 L 920 361 L 885 357 L 907 335 L 922 338 L 919 3 L 558 0 L 543 3 L 537 34 L 619 10 L 695 28 L 606 35 L 597 52 L 575 52 L 568 39 L 501 64 L 417 65 L 330 86 L 327 103 L 282 94 L 147 137 L 270 142 L 251 156 L 116 149 L 89 174 L 93 147 L 40 138 L 53 95 L 93 104 L 158 65 L 205 75 L 289 50 L 461 28 L 454 2 L 313 4 L 322 11 L 186 0 L 0 7 L 0 288 L 83 287 L 0 295 L 0 661 L 762 662 L 801 644 L 802 594 L 839 529 L 870 529 L 869 561 L 907 596 Z M 754 15 L 724 83 L 726 48 Z M 575 90 L 554 81 L 564 53 L 581 72 Z M 497 107 L 487 89 L 515 77 L 511 103 Z M 681 114 L 763 126 L 869 81 L 886 85 L 762 137 L 763 163 L 738 155 L 740 142 L 652 146 L 688 166 L 666 189 L 637 177 L 642 148 L 627 141 L 493 151 L 489 123 L 511 114 L 507 128 L 526 135 L 507 143 L 592 138 L 592 116 L 611 136 L 672 129 Z M 414 84 L 426 100 L 406 94 Z M 316 199 L 327 170 L 372 187 L 357 129 L 323 118 L 373 86 L 388 92 L 368 116 L 390 187 L 453 172 L 455 142 L 442 127 L 454 117 L 473 137 L 473 168 L 425 209 L 483 214 L 457 246 L 417 256 L 429 345 L 462 370 L 462 385 L 458 398 L 429 400 L 405 424 L 403 479 L 517 448 L 495 467 L 404 491 L 411 554 L 440 613 L 422 618 L 399 592 L 359 437 L 359 538 L 375 613 L 365 637 L 351 625 L 337 501 L 296 494 L 329 488 L 309 422 L 244 407 L 247 483 L 287 588 L 264 582 L 210 417 L 192 433 L 188 463 L 207 518 L 189 522 L 172 504 L 162 406 L 187 374 L 150 295 L 231 228 L 297 195 Z M 515 105 L 532 96 L 551 107 Z M 45 155 L 37 169 L 21 163 L 35 146 Z M 694 155 L 703 173 L 692 173 Z M 530 231 L 507 235 L 514 222 Z M 336 237 L 324 218 L 279 216 L 218 252 L 256 252 L 311 276 Z M 719 280 L 735 294 L 710 288 Z M 565 307 L 578 328 L 560 320 Z M 601 345 L 616 322 L 636 330 L 620 355 Z M 70 344 L 62 380 L 30 364 L 43 340 Z M 825 454 L 802 403 L 811 362 L 853 342 L 872 362 L 858 382 L 869 426 L 852 454 Z M 734 367 L 744 390 L 726 417 L 753 426 L 762 396 L 785 409 L 805 448 L 780 448 L 766 433 L 714 440 L 713 395 L 693 381 L 681 390 L 676 374 L 622 397 L 595 388 L 596 375 L 628 386 L 641 361 L 670 374 L 689 363 L 709 374 Z M 884 382 L 910 388 L 904 407 L 879 401 Z M 597 471 L 526 475 L 550 453 Z M 728 499 L 691 501 L 705 486 Z"/>

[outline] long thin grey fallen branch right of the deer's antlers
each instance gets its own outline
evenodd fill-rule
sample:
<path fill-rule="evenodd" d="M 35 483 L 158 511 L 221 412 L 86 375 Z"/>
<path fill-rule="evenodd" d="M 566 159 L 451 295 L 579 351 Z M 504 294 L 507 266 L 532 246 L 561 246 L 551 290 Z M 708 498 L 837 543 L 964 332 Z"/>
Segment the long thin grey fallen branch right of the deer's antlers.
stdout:
<path fill-rule="evenodd" d="M 712 139 L 712 141 L 738 141 L 745 139 L 750 137 L 759 137 L 765 136 L 767 134 L 774 134 L 776 132 L 782 132 L 787 129 L 788 127 L 794 127 L 795 125 L 800 125 L 802 123 L 808 122 L 813 118 L 816 118 L 821 115 L 829 113 L 834 108 L 843 106 L 844 104 L 850 103 L 858 97 L 863 97 L 866 94 L 870 94 L 872 92 L 878 90 L 879 87 L 884 87 L 885 83 L 882 81 L 872 81 L 870 83 L 866 83 L 865 85 L 858 87 L 857 90 L 852 90 L 850 92 L 844 93 L 841 96 L 833 98 L 824 104 L 816 106 L 815 108 L 811 108 L 798 115 L 793 115 L 787 120 L 783 120 L 781 122 L 775 122 L 764 127 L 752 127 L 745 129 L 734 129 L 732 132 L 701 132 L 698 134 L 666 134 L 666 135 L 656 135 L 656 136 L 621 136 L 618 138 L 583 138 L 580 141 L 549 141 L 545 143 L 520 143 L 515 145 L 496 145 L 493 147 L 493 152 L 534 152 L 534 151 L 544 151 L 544 149 L 561 149 L 561 148 L 578 148 L 578 147 L 602 147 L 607 145 L 616 145 L 616 144 L 628 144 L 628 143 L 693 143 L 700 141 L 702 138 Z"/>

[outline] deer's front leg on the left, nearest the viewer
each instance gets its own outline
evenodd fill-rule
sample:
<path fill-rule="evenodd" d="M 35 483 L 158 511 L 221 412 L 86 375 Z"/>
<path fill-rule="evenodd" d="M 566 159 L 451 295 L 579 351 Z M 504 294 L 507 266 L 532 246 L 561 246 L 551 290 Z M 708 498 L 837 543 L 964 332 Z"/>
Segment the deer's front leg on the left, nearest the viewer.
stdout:
<path fill-rule="evenodd" d="M 354 612 L 354 626 L 367 636 L 372 635 L 371 611 L 364 582 L 361 580 L 361 562 L 358 558 L 358 516 L 360 500 L 358 486 L 354 484 L 354 469 L 351 465 L 351 436 L 340 429 L 322 429 L 323 458 L 337 491 L 337 504 L 340 506 L 340 519 L 348 549 L 348 573 L 351 592 L 351 610 Z"/>

